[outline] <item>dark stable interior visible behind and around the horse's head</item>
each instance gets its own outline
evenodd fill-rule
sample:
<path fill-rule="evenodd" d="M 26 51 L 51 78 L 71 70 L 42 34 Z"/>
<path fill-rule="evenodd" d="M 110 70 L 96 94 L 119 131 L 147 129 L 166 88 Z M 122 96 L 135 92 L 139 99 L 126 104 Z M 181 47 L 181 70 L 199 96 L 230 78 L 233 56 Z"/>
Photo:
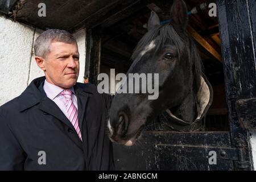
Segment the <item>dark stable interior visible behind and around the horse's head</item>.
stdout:
<path fill-rule="evenodd" d="M 203 2 L 186 1 L 188 10 Z M 126 73 L 131 65 L 133 49 L 147 32 L 143 25 L 147 23 L 151 10 L 158 13 L 160 20 L 166 20 L 168 7 L 171 7 L 170 1 L 152 1 L 133 15 L 105 28 L 102 31 L 100 71 L 109 74 L 114 68 L 115 74 Z M 213 104 L 205 118 L 205 131 L 229 131 L 218 19 L 210 17 L 208 11 L 189 16 L 187 30 L 197 44 L 203 71 L 213 88 Z"/>

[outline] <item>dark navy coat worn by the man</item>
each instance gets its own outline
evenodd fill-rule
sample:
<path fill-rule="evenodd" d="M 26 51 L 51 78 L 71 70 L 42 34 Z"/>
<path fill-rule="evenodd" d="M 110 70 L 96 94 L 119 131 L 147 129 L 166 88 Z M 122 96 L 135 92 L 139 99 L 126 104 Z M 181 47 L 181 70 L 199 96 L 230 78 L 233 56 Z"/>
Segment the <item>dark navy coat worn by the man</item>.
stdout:
<path fill-rule="evenodd" d="M 44 80 L 36 78 L 0 107 L 0 170 L 114 169 L 106 130 L 112 96 L 99 94 L 93 84 L 74 86 L 81 142 L 72 123 L 44 93 Z"/>

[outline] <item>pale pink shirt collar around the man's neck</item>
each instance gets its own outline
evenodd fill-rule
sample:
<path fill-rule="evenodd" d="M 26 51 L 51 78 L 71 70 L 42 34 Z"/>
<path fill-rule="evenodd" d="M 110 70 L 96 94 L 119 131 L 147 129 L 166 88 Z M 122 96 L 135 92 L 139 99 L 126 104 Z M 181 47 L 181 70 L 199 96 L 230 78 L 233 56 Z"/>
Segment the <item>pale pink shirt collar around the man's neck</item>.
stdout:
<path fill-rule="evenodd" d="M 53 85 L 49 83 L 48 81 L 44 81 L 44 92 L 46 92 L 46 96 L 53 100 L 55 97 L 57 97 L 64 89 L 60 88 L 59 86 Z M 73 86 L 69 88 L 73 94 L 75 94 L 75 90 Z"/>

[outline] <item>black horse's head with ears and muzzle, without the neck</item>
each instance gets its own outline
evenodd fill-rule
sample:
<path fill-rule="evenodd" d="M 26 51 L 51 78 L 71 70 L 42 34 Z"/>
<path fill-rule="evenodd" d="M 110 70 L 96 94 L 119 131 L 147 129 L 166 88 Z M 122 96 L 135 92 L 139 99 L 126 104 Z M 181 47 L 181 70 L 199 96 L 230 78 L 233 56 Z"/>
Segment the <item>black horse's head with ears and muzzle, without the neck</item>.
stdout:
<path fill-rule="evenodd" d="M 188 22 L 187 7 L 183 1 L 174 1 L 170 24 L 160 24 L 152 11 L 148 32 L 133 53 L 133 64 L 128 73 L 158 73 L 158 98 L 148 99 L 148 93 L 116 94 L 109 112 L 110 139 L 132 145 L 143 127 L 167 108 L 180 104 L 191 92 L 193 77 L 200 75 L 200 63 L 195 44 L 185 31 Z M 200 61 L 199 61 L 200 62 Z M 140 88 L 142 89 L 142 88 Z"/>

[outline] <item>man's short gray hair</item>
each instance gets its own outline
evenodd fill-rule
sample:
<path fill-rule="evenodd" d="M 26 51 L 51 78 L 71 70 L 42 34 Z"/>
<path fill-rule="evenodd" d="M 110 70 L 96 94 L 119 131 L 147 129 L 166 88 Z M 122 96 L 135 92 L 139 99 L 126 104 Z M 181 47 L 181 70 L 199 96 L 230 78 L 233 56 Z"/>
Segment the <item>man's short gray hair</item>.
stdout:
<path fill-rule="evenodd" d="M 34 43 L 35 56 L 46 57 L 49 53 L 49 46 L 52 42 L 64 42 L 76 44 L 76 39 L 65 30 L 48 29 L 36 38 Z"/>

